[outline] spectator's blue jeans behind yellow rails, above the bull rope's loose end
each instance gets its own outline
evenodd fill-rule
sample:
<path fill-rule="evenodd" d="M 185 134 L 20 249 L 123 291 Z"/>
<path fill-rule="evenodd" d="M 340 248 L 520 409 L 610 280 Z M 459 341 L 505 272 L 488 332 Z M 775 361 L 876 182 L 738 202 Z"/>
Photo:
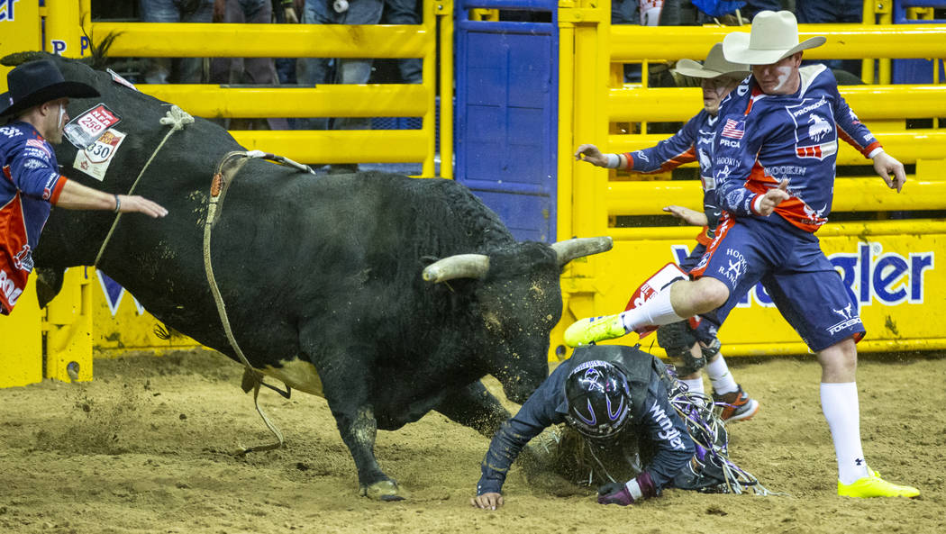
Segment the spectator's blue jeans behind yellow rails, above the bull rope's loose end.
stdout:
<path fill-rule="evenodd" d="M 303 24 L 376 25 L 381 21 L 382 0 L 349 0 L 348 10 L 337 13 L 329 0 L 306 0 Z M 332 68 L 334 61 L 335 68 Z M 371 78 L 371 60 L 330 58 L 299 58 L 296 61 L 296 79 L 299 85 L 315 86 L 320 83 L 368 83 Z M 299 119 L 301 129 L 328 129 L 328 119 Z M 331 121 L 331 129 L 371 129 L 366 117 L 344 117 Z"/>

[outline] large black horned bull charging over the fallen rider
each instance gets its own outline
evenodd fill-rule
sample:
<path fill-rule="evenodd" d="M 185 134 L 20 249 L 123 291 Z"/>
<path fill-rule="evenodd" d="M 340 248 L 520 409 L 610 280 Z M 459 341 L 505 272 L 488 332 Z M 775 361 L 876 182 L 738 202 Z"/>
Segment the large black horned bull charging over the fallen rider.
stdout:
<path fill-rule="evenodd" d="M 58 62 L 66 79 L 102 95 L 74 100 L 70 115 L 101 101 L 127 134 L 103 181 L 72 168 L 68 142 L 56 152 L 63 173 L 128 193 L 167 132 L 159 121 L 169 106 L 77 61 Z M 234 359 L 201 247 L 212 173 L 241 149 L 200 118 L 171 135 L 134 191 L 169 215 L 122 215 L 98 263 L 157 319 Z M 36 266 L 55 273 L 92 265 L 113 221 L 107 212 L 54 210 Z M 258 160 L 239 172 L 213 235 L 217 282 L 243 353 L 255 369 L 324 396 L 361 494 L 383 499 L 400 491 L 377 464 L 377 429 L 433 409 L 491 436 L 508 412 L 480 379 L 492 374 L 510 400 L 525 400 L 548 373 L 561 268 L 610 248 L 606 238 L 517 242 L 454 181 L 377 172 L 316 178 Z M 470 253 L 477 255 L 455 263 Z"/>

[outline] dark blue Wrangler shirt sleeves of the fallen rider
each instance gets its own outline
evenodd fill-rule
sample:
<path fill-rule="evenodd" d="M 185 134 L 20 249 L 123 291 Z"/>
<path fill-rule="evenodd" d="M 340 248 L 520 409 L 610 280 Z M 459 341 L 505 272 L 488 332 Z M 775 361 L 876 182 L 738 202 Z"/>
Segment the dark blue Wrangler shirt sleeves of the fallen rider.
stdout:
<path fill-rule="evenodd" d="M 650 354 L 643 354 L 648 358 L 652 357 Z M 565 382 L 571 370 L 587 359 L 573 355 L 562 362 L 519 408 L 518 413 L 502 423 L 482 460 L 482 476 L 477 485 L 478 495 L 499 493 L 509 467 L 526 443 L 547 427 L 565 422 L 565 415 L 568 413 Z M 670 405 L 667 388 L 656 371 L 650 373 L 646 388 L 644 402 L 634 406 L 632 421 L 622 432 L 634 433 L 641 443 L 649 441 L 653 446 L 656 453 L 650 465 L 644 467 L 644 471 L 651 475 L 659 491 L 687 466 L 693 456 L 694 447 L 686 424 Z"/>

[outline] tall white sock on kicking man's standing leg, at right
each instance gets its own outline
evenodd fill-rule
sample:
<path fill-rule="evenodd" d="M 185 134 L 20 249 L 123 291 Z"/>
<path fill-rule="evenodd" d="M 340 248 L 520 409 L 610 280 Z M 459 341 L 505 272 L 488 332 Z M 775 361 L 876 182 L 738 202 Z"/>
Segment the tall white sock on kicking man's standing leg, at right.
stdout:
<path fill-rule="evenodd" d="M 821 411 L 828 420 L 837 456 L 837 479 L 851 484 L 867 476 L 867 461 L 861 448 L 861 410 L 857 383 L 821 383 Z"/>

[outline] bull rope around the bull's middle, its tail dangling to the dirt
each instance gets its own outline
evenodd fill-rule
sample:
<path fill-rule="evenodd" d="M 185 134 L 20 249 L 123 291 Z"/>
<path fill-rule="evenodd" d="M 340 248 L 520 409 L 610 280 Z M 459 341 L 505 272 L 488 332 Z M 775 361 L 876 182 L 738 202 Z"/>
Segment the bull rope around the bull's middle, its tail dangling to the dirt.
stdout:
<path fill-rule="evenodd" d="M 246 368 L 243 371 L 243 390 L 249 391 L 249 385 L 252 384 L 253 404 L 256 408 L 256 413 L 259 414 L 259 416 L 263 419 L 263 422 L 266 423 L 266 427 L 270 429 L 270 432 L 272 432 L 272 435 L 276 438 L 274 443 L 267 445 L 258 445 L 255 447 L 240 446 L 240 450 L 236 452 L 236 454 L 239 456 L 243 456 L 254 451 L 271 451 L 273 449 L 279 449 L 285 443 L 285 440 L 283 439 L 283 433 L 279 430 L 279 428 L 276 427 L 275 424 L 272 423 L 272 421 L 270 421 L 269 416 L 266 415 L 266 412 L 264 412 L 263 408 L 259 405 L 259 388 L 261 386 L 272 388 L 272 386 L 263 383 L 263 373 L 254 369 L 246 355 L 243 353 L 242 349 L 240 349 L 239 343 L 236 342 L 236 336 L 234 336 L 233 329 L 230 326 L 230 319 L 227 316 L 227 306 L 226 303 L 223 302 L 223 297 L 220 295 L 217 278 L 214 276 L 214 267 L 210 259 L 210 234 L 216 222 L 218 212 L 222 211 L 223 209 L 223 197 L 226 194 L 230 183 L 236 179 L 236 173 L 239 172 L 239 169 L 251 159 L 272 160 L 280 164 L 286 164 L 300 171 L 315 174 L 312 168 L 308 165 L 297 164 L 296 162 L 293 162 L 292 160 L 282 156 L 276 156 L 274 154 L 269 154 L 260 150 L 250 150 L 245 152 L 234 151 L 228 152 L 223 156 L 223 159 L 220 160 L 220 163 L 217 166 L 217 172 L 214 173 L 214 178 L 210 185 L 210 199 L 207 205 L 207 218 L 203 223 L 203 268 L 207 273 L 207 283 L 210 285 L 210 291 L 213 293 L 214 301 L 217 303 L 217 312 L 220 316 L 220 322 L 223 323 L 223 331 L 226 333 L 227 340 L 230 342 L 230 346 L 239 357 L 240 362 L 242 362 L 243 366 Z M 276 388 L 272 389 L 275 389 L 284 397 L 289 398 L 289 387 L 286 388 L 286 392 L 280 391 Z"/>

